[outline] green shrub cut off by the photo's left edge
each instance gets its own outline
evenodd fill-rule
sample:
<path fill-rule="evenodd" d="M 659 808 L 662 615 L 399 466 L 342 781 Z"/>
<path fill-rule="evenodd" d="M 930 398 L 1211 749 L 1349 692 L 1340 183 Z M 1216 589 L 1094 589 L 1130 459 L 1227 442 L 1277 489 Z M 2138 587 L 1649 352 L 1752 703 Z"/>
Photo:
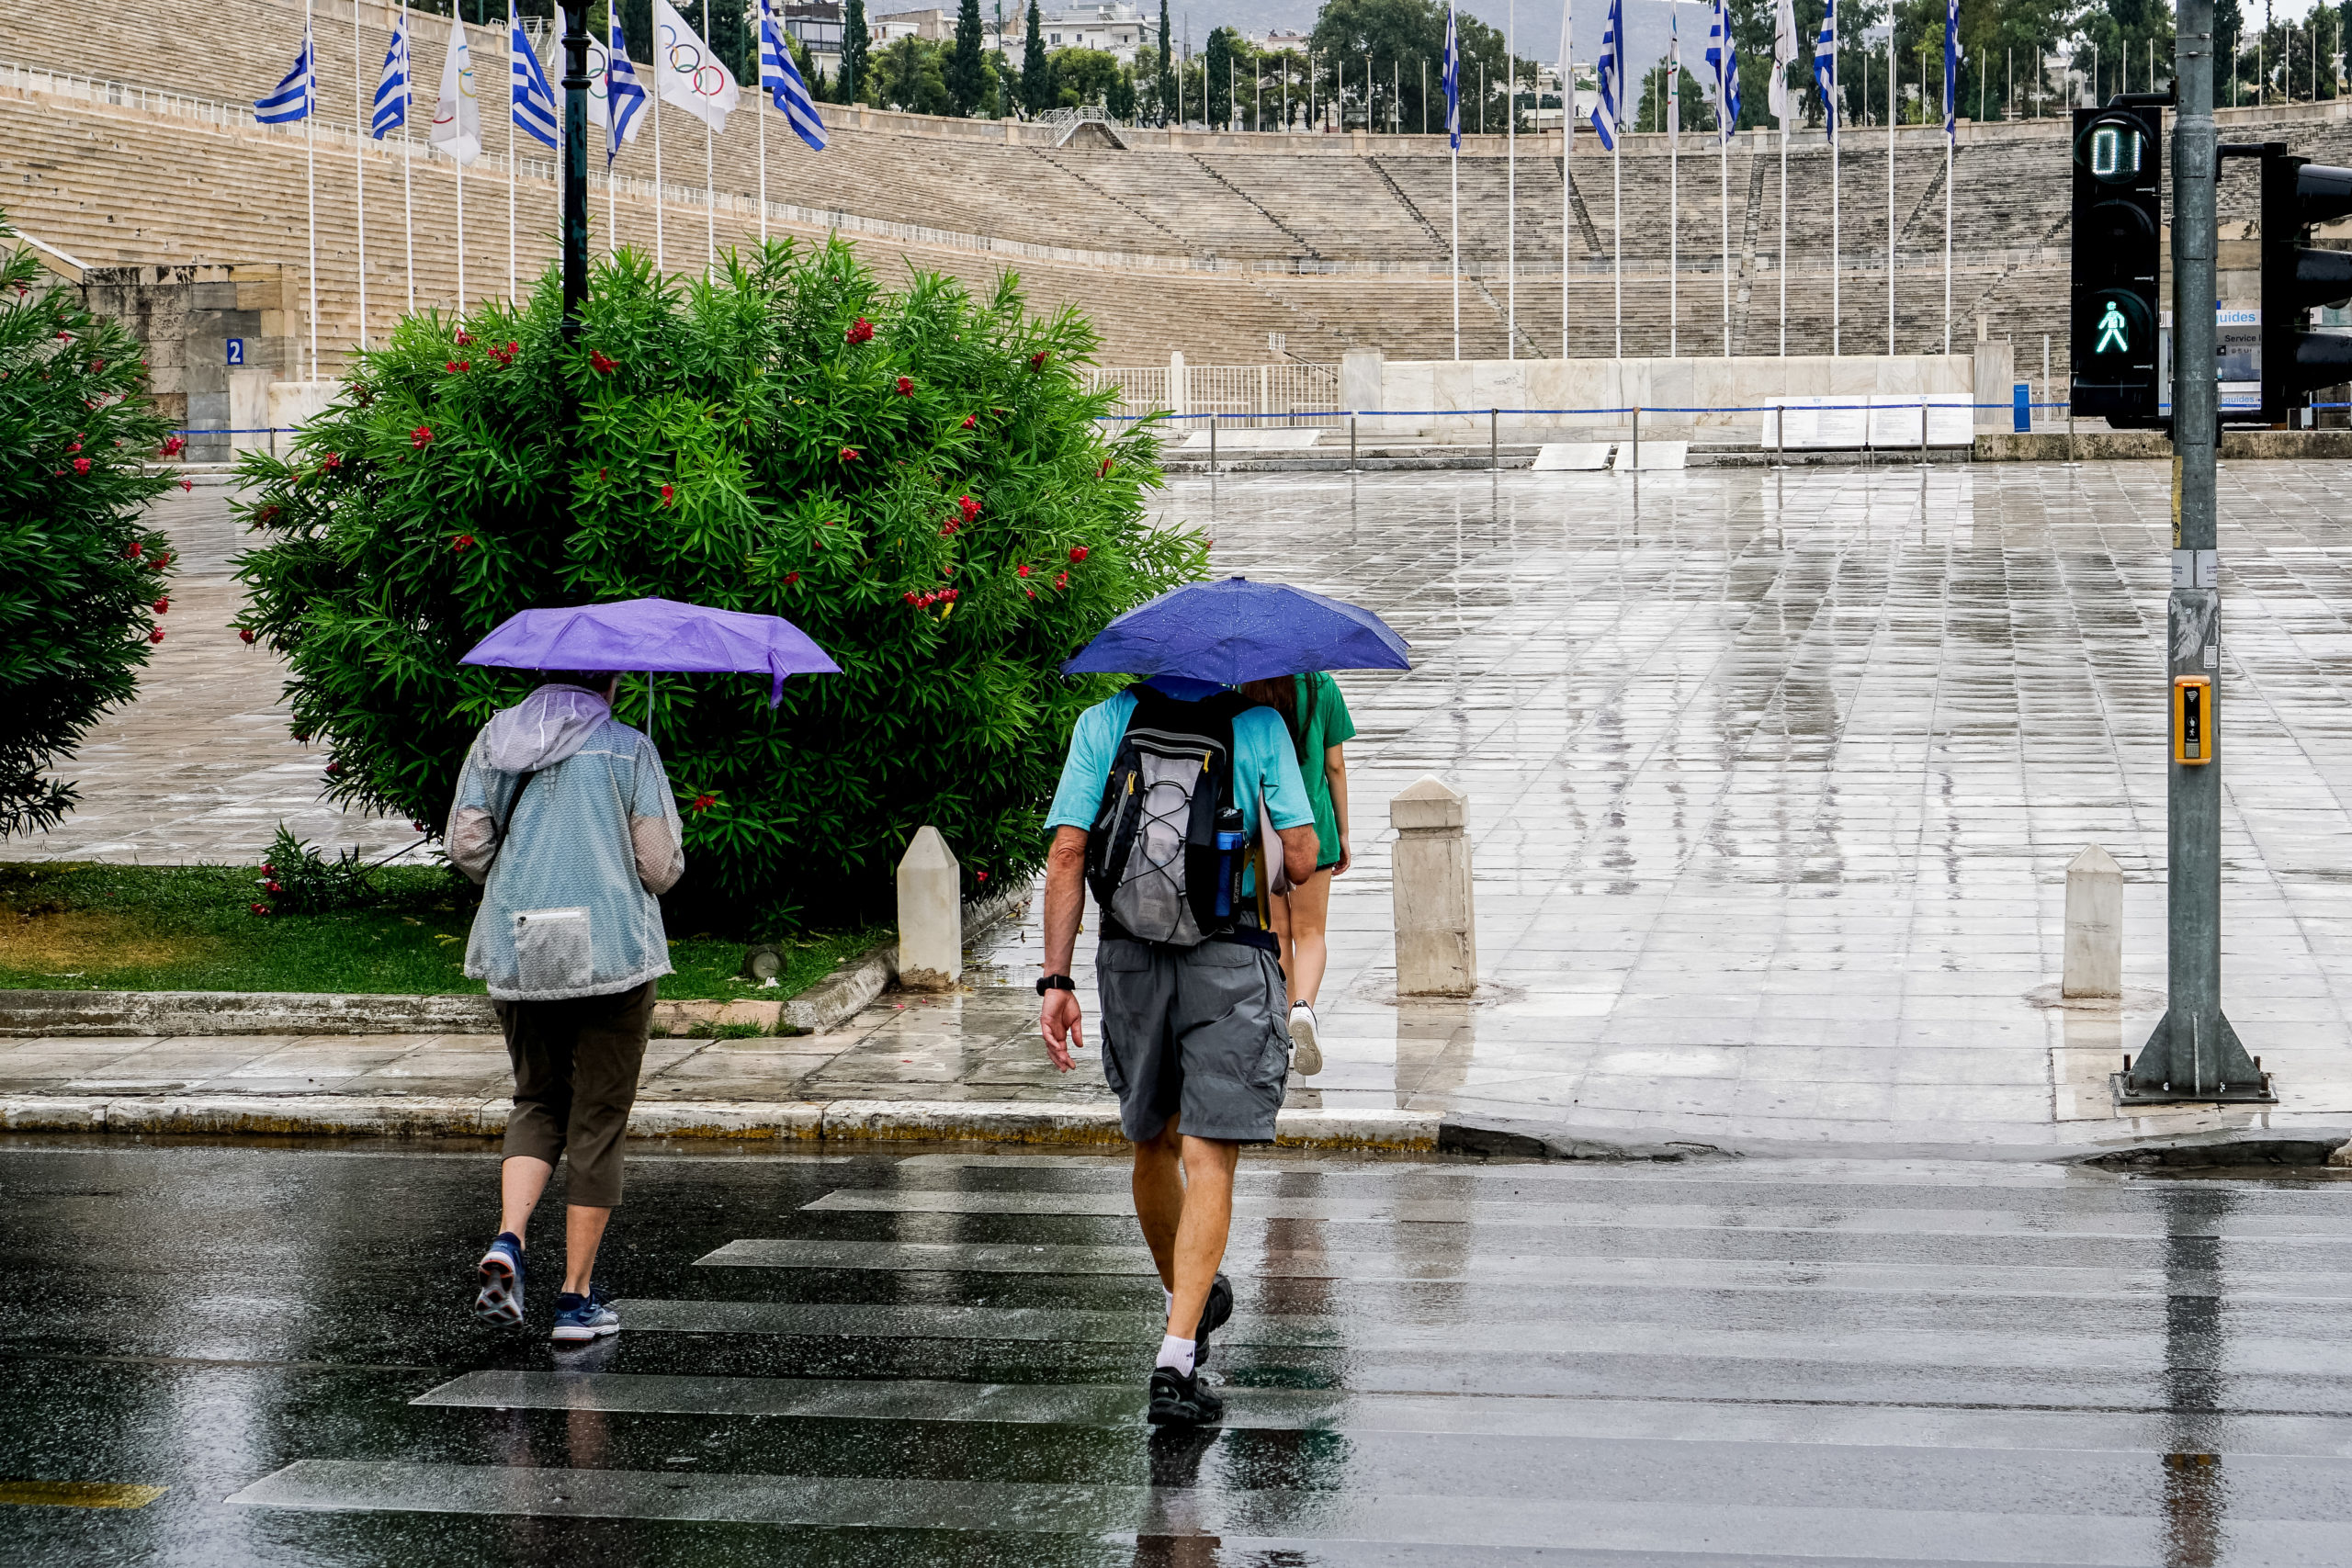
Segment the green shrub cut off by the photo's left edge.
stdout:
<path fill-rule="evenodd" d="M 54 827 L 49 769 L 132 698 L 162 642 L 172 555 L 141 522 L 172 487 L 146 468 L 169 425 L 139 339 L 42 289 L 0 216 L 0 837 Z"/>

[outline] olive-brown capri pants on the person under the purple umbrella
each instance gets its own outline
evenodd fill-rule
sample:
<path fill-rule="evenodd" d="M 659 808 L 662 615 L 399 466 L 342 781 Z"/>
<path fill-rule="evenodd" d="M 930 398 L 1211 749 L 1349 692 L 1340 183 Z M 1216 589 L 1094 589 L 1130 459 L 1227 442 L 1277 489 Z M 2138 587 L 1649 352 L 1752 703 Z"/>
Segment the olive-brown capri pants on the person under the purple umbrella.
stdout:
<path fill-rule="evenodd" d="M 628 1135 L 628 1107 L 637 1103 L 654 980 L 609 997 L 492 1006 L 515 1063 L 506 1157 L 529 1154 L 553 1166 L 569 1152 L 564 1201 L 619 1208 L 621 1138 Z"/>

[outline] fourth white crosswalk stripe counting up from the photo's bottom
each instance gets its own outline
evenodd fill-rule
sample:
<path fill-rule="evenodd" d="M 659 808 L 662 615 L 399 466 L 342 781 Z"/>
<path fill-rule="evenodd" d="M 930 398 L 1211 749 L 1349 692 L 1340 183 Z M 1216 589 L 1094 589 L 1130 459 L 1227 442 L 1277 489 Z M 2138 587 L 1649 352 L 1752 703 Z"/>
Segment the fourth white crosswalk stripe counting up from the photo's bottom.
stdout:
<path fill-rule="evenodd" d="M 1708 1291 L 1877 1291 L 1891 1295 L 2220 1295 L 2232 1302 L 2352 1298 L 2352 1274 L 2253 1274 L 2209 1269 L 2110 1269 L 2067 1265 L 1757 1262 L 1736 1258 L 1595 1258 L 1559 1253 L 1277 1251 L 1235 1246 L 1258 1279 L 1352 1284 L 1541 1279 L 1552 1286 L 1691 1286 Z M 1143 1246 L 1044 1246 L 1025 1241 L 802 1241 L 743 1239 L 699 1267 L 875 1269 L 957 1274 L 1155 1274 Z"/>

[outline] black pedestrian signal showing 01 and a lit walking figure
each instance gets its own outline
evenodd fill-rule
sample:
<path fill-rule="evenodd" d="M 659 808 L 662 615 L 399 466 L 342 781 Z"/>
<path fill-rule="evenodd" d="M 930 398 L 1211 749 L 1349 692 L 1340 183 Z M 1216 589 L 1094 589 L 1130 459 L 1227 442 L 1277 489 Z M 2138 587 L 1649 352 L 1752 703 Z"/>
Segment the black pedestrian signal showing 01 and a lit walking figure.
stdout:
<path fill-rule="evenodd" d="M 2157 423 L 2164 110 L 2074 110 L 2074 414 Z"/>

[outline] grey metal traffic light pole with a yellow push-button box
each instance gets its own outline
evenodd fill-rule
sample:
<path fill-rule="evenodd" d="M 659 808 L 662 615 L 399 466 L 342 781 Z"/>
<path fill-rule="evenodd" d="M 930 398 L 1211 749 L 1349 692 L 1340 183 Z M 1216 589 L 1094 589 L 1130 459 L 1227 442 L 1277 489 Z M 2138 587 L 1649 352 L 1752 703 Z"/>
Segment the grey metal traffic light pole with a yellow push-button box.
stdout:
<path fill-rule="evenodd" d="M 2114 1079 L 2119 1105 L 2277 1095 L 2220 1011 L 2220 559 L 2213 456 L 2216 183 L 2213 0 L 2180 0 L 2173 92 L 2173 592 L 2166 614 L 2169 877 L 2164 1020 Z"/>

